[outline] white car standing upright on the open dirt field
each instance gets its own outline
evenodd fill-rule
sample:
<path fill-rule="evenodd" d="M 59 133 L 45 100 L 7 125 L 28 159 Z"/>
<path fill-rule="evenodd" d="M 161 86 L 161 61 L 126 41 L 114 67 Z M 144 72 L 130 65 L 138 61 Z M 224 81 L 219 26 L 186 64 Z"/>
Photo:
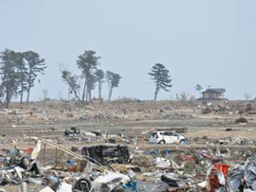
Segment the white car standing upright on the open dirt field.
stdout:
<path fill-rule="evenodd" d="M 187 139 L 174 131 L 154 131 L 149 141 L 155 144 L 185 144 Z"/>

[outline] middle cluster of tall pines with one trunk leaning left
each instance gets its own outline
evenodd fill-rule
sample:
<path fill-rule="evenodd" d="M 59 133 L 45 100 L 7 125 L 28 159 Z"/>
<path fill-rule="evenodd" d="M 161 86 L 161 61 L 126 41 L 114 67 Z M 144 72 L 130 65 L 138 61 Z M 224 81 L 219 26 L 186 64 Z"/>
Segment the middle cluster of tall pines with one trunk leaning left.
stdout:
<path fill-rule="evenodd" d="M 76 63 L 81 70 L 80 76 L 72 75 L 67 69 L 62 71 L 62 79 L 68 85 L 69 93 L 74 94 L 82 104 L 92 102 L 92 91 L 96 86 L 99 88 L 98 99 L 102 100 L 102 83 L 105 81 L 108 84 L 108 100 L 111 100 L 113 89 L 119 87 L 120 75 L 111 71 L 104 73 L 99 69 L 100 60 L 101 57 L 96 56 L 96 51 L 86 50 L 78 57 Z M 80 80 L 82 80 L 82 86 Z M 82 96 L 79 94 L 81 89 Z"/>

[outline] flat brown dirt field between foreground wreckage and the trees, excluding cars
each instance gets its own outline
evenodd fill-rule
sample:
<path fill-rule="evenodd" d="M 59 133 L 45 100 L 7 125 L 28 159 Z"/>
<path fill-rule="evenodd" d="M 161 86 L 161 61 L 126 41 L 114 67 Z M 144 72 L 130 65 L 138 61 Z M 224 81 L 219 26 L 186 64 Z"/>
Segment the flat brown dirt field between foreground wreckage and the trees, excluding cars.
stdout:
<path fill-rule="evenodd" d="M 246 117 L 247 123 L 235 124 L 235 119 Z M 76 127 L 82 131 L 122 133 L 118 144 L 132 150 L 166 149 L 192 151 L 196 149 L 229 148 L 255 150 L 256 114 L 236 110 L 220 113 L 202 113 L 198 106 L 183 106 L 177 102 L 112 102 L 81 106 L 62 102 L 33 103 L 29 106 L 12 104 L 0 111 L 1 148 L 33 148 L 36 136 L 70 149 L 105 144 L 105 140 L 88 138 L 67 139 L 65 129 Z M 155 129 L 188 128 L 183 133 L 189 145 L 150 144 L 149 133 Z M 228 130 L 227 130 L 228 129 Z M 220 140 L 229 140 L 222 144 Z M 247 142 L 242 142 L 246 140 Z M 9 188 L 9 191 L 15 191 Z"/>

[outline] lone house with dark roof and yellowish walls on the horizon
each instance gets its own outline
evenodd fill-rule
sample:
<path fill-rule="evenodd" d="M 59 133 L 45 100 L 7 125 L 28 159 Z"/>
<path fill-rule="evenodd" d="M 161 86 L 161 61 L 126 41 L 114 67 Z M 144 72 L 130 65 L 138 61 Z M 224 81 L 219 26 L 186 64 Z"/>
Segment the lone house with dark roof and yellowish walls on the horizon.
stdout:
<path fill-rule="evenodd" d="M 197 100 L 203 105 L 211 103 L 212 105 L 226 105 L 228 98 L 225 98 L 226 90 L 223 88 L 209 88 L 202 92 L 202 97 Z"/>

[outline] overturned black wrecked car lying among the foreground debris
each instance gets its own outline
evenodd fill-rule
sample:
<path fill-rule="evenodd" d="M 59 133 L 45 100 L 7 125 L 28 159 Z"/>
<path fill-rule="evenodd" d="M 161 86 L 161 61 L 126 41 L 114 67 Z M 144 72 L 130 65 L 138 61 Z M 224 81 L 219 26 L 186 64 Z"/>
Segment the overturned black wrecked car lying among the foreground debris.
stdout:
<path fill-rule="evenodd" d="M 102 165 L 108 163 L 125 164 L 131 161 L 132 154 L 127 146 L 94 146 L 82 148 L 82 156 L 89 157 Z"/>

